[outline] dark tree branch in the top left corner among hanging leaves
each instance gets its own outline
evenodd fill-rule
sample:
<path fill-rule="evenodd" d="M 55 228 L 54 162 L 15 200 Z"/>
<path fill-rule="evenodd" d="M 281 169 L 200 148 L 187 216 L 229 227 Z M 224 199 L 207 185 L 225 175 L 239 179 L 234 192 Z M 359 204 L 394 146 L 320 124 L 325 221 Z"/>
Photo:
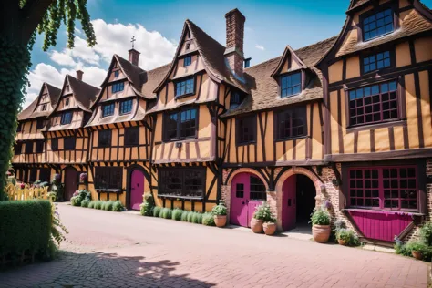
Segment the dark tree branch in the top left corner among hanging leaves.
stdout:
<path fill-rule="evenodd" d="M 21 9 L 21 41 L 25 44 L 41 22 L 46 10 L 54 0 L 27 0 L 26 5 Z"/>

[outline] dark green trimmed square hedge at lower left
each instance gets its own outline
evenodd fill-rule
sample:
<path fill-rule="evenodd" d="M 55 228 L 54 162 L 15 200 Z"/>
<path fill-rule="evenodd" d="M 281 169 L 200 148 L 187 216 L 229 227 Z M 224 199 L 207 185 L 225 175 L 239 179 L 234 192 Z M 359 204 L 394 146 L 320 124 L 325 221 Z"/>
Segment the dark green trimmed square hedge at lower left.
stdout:
<path fill-rule="evenodd" d="M 0 201 L 0 256 L 17 259 L 23 252 L 38 258 L 49 255 L 51 237 L 49 201 Z"/>

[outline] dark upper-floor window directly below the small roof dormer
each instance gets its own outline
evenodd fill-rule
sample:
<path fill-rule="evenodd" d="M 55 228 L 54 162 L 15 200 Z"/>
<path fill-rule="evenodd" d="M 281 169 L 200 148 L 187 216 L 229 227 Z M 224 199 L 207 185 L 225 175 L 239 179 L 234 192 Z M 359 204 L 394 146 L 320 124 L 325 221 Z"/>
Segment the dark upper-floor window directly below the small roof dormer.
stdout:
<path fill-rule="evenodd" d="M 276 139 L 292 139 L 306 135 L 306 108 L 292 108 L 275 113 Z"/>

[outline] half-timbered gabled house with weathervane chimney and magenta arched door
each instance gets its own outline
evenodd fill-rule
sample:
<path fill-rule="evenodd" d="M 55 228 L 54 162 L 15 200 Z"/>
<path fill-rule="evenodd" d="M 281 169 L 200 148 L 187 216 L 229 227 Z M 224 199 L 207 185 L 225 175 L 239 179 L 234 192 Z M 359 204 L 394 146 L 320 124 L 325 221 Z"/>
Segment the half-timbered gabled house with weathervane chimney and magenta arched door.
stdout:
<path fill-rule="evenodd" d="M 139 210 L 144 192 L 150 191 L 155 123 L 145 117 L 155 98 L 153 90 L 168 68 L 145 71 L 138 64 L 139 52 L 133 48 L 129 61 L 112 57 L 86 126 L 91 132 L 88 184 L 93 198 L 120 200 L 134 210 Z"/>

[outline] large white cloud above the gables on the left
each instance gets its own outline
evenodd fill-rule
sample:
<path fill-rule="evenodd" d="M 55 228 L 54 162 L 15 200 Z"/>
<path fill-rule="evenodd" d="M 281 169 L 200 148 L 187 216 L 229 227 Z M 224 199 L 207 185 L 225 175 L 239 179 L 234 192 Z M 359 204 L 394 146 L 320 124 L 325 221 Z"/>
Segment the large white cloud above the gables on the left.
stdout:
<path fill-rule="evenodd" d="M 98 0 L 95 0 L 95 4 L 97 2 Z M 83 33 L 76 31 L 73 49 L 49 52 L 50 59 L 57 64 L 58 69 L 46 63 L 39 63 L 30 71 L 28 79 L 31 87 L 27 88 L 25 106 L 37 97 L 42 83 L 47 82 L 60 88 L 66 74 L 75 77 L 77 69 L 84 71 L 85 82 L 99 87 L 107 73 L 101 67 L 108 67 L 114 54 L 128 59 L 132 36 L 137 39 L 135 49 L 141 53 L 139 67 L 149 70 L 169 63 L 174 57 L 177 41 L 168 40 L 158 31 L 148 31 L 140 24 L 109 24 L 102 19 L 93 20 L 92 24 L 98 42 L 96 46 L 88 47 Z"/>

